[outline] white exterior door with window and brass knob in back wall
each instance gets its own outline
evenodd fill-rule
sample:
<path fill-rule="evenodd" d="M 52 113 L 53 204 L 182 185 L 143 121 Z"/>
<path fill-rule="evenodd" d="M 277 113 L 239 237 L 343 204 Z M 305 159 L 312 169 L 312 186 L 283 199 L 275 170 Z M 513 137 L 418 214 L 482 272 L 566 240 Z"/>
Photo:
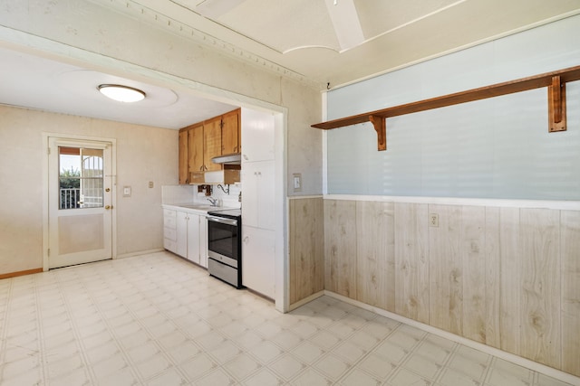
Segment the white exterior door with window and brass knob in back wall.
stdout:
<path fill-rule="evenodd" d="M 111 259 L 111 143 L 48 144 L 49 268 Z"/>

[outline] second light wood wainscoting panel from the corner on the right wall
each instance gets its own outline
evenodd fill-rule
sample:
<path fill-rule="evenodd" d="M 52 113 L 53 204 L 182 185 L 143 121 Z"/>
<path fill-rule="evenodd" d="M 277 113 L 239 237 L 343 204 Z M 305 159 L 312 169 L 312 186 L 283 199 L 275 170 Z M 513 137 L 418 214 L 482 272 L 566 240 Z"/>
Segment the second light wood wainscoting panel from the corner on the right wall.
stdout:
<path fill-rule="evenodd" d="M 394 312 L 394 203 L 356 202 L 356 240 L 356 299 Z"/>

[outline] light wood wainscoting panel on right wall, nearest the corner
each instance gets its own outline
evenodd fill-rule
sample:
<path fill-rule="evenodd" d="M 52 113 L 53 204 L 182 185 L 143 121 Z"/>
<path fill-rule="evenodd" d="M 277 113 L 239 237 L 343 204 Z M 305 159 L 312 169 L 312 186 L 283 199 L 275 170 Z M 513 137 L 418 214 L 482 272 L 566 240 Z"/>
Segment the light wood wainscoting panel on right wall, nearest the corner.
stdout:
<path fill-rule="evenodd" d="M 356 299 L 356 202 L 324 200 L 324 289 Z"/>

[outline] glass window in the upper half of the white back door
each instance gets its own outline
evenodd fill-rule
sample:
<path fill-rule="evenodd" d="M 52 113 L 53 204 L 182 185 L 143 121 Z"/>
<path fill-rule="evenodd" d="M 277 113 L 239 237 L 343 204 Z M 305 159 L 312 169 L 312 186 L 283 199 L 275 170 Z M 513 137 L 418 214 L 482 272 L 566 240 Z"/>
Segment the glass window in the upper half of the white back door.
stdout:
<path fill-rule="evenodd" d="M 103 206 L 102 149 L 59 146 L 60 209 Z"/>

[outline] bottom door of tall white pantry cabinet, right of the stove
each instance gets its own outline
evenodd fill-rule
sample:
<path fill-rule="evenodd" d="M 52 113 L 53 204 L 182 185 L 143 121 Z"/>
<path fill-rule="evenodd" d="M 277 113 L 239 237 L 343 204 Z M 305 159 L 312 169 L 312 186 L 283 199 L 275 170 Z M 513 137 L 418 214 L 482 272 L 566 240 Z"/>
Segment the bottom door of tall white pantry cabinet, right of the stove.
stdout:
<path fill-rule="evenodd" d="M 242 283 L 275 297 L 275 232 L 242 225 Z"/>

